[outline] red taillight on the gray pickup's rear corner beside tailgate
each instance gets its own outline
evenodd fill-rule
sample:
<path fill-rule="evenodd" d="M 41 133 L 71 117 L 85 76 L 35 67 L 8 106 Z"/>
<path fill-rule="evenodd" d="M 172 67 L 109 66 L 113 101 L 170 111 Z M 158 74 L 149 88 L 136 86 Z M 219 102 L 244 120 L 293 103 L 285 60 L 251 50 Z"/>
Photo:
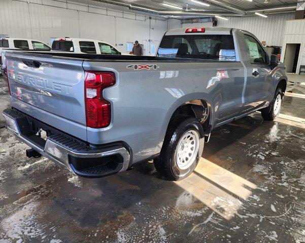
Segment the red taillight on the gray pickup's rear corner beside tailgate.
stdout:
<path fill-rule="evenodd" d="M 105 128 L 111 121 L 111 105 L 103 90 L 115 84 L 113 72 L 85 72 L 86 124 L 90 128 Z"/>

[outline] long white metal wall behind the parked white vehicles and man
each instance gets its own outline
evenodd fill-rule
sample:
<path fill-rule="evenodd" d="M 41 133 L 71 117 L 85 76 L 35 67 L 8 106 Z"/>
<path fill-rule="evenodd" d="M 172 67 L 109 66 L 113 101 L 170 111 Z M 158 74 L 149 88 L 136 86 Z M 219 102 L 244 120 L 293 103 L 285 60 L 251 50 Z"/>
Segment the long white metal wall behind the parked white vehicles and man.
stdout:
<path fill-rule="evenodd" d="M 126 42 L 138 40 L 150 54 L 167 30 L 165 19 L 63 0 L 1 0 L 0 34 L 39 39 L 50 37 L 101 39 L 126 53 Z M 123 46 L 121 46 L 123 44 Z"/>

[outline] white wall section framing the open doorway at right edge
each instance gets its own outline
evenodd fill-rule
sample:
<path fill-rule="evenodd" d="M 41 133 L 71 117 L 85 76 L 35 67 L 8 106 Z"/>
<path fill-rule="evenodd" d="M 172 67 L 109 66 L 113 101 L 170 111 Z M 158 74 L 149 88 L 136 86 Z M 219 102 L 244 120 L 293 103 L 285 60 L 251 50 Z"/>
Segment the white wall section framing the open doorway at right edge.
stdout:
<path fill-rule="evenodd" d="M 298 63 L 296 67 L 296 73 L 299 73 L 300 65 L 305 65 L 305 19 L 295 19 L 287 21 L 284 34 L 281 62 L 284 62 L 286 44 L 298 43 L 301 45 L 298 56 Z"/>

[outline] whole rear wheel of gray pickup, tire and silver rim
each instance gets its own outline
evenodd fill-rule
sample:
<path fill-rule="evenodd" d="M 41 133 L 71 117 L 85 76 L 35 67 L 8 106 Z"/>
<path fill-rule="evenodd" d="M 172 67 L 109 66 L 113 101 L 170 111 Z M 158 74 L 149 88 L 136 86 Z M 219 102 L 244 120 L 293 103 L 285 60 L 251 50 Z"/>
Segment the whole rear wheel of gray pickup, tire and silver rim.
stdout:
<path fill-rule="evenodd" d="M 204 149 L 201 130 L 199 121 L 192 117 L 170 124 L 161 153 L 154 159 L 157 171 L 166 179 L 179 181 L 195 170 Z"/>

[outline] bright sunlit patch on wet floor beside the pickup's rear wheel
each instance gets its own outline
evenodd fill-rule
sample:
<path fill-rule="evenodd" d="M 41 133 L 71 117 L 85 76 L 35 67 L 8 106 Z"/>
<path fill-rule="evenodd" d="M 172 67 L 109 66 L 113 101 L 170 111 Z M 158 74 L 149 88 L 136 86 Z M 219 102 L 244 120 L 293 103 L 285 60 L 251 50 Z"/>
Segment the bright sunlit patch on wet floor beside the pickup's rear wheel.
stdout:
<path fill-rule="evenodd" d="M 193 174 L 175 183 L 226 220 L 243 206 L 241 199 L 247 199 L 257 187 L 204 158 Z"/>

